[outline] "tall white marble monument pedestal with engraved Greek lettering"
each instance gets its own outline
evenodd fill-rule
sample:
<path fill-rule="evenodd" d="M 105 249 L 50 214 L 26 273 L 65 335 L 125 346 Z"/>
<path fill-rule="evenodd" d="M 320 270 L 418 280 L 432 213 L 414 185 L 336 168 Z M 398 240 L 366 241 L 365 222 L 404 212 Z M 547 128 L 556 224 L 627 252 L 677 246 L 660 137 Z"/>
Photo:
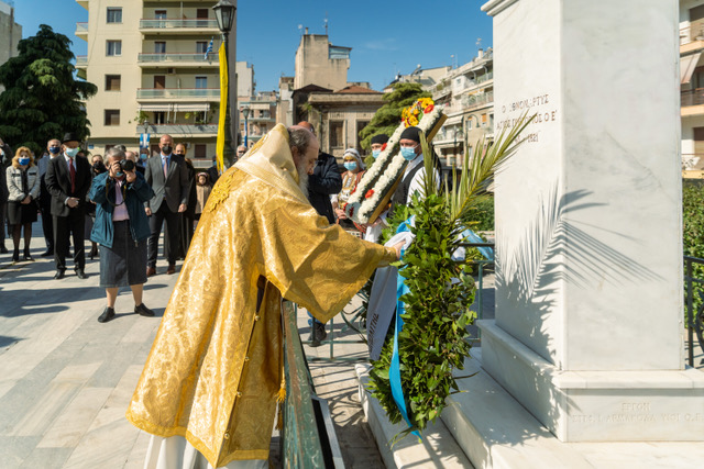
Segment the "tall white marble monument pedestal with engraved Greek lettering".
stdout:
<path fill-rule="evenodd" d="M 678 3 L 492 0 L 496 314 L 482 367 L 561 442 L 702 442 L 683 338 Z"/>

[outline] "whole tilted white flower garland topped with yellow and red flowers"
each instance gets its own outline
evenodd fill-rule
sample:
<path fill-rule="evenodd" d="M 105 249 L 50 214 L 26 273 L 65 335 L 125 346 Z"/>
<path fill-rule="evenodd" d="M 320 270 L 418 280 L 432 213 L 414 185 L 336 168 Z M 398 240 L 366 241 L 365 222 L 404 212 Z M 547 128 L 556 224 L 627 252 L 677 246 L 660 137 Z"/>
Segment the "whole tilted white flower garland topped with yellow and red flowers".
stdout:
<path fill-rule="evenodd" d="M 400 139 L 400 134 L 408 126 L 418 126 L 428 134 L 442 116 L 442 107 L 435 105 L 430 98 L 421 98 L 413 105 L 404 109 L 402 116 L 403 122 L 388 141 L 389 144 L 394 142 L 393 145 L 388 145 L 386 152 L 382 152 L 372 168 L 367 170 L 367 174 L 373 174 L 369 175 L 369 178 L 367 175 L 364 175 L 365 177 L 358 187 L 360 190 L 350 197 L 348 204 L 344 206 L 346 215 L 358 223 L 370 223 L 376 209 L 384 201 L 384 198 L 388 196 L 394 183 L 406 169 L 408 161 L 402 154 L 397 153 L 391 157 L 392 152 L 389 150 L 391 148 L 395 149 L 397 142 Z M 382 157 L 384 157 L 384 160 L 381 160 Z M 366 197 L 370 191 L 372 191 L 371 197 Z"/>

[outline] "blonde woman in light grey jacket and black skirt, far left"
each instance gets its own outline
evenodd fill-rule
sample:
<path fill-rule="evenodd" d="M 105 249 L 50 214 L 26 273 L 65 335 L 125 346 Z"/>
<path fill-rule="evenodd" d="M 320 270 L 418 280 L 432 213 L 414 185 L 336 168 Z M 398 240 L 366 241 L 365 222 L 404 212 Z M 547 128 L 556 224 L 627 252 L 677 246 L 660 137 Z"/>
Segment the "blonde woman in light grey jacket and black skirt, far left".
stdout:
<path fill-rule="evenodd" d="M 40 198 L 40 174 L 34 166 L 30 148 L 18 148 L 12 166 L 7 169 L 8 179 L 8 221 L 12 225 L 14 253 L 12 261 L 20 260 L 20 235 L 24 226 L 24 260 L 34 260 L 30 254 L 32 223 L 36 222 L 36 200 Z"/>

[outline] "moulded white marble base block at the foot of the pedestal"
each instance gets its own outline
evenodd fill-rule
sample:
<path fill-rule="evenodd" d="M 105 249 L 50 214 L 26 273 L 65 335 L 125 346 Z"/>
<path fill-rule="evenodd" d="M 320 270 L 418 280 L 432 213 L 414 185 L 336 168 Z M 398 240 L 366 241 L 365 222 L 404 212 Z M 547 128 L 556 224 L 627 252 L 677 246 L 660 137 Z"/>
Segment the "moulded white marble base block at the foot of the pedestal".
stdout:
<path fill-rule="evenodd" d="M 492 320 L 482 368 L 562 442 L 704 442 L 704 373 L 560 370 Z"/>

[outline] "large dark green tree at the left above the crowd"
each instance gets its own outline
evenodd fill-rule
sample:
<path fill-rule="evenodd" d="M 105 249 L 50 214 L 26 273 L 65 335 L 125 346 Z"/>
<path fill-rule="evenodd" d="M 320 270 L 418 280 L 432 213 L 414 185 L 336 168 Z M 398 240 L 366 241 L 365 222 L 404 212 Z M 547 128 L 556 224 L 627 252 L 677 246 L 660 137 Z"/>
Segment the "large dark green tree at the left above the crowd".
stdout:
<path fill-rule="evenodd" d="M 0 136 L 13 148 L 41 154 L 51 138 L 74 132 L 84 141 L 90 131 L 82 101 L 98 88 L 74 78 L 70 40 L 46 24 L 20 41 L 19 55 L 0 66 Z"/>

